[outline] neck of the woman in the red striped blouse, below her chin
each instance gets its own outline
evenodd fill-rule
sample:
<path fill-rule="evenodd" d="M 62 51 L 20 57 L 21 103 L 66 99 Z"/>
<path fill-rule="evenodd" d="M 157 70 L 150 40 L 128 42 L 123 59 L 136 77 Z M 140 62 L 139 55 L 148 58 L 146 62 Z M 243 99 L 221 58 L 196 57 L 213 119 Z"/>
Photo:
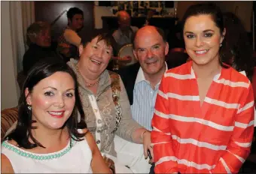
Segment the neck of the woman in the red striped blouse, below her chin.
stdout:
<path fill-rule="evenodd" d="M 218 58 L 215 58 L 207 65 L 197 65 L 193 62 L 192 68 L 199 79 L 213 78 L 221 72 L 221 65 L 218 62 Z"/>

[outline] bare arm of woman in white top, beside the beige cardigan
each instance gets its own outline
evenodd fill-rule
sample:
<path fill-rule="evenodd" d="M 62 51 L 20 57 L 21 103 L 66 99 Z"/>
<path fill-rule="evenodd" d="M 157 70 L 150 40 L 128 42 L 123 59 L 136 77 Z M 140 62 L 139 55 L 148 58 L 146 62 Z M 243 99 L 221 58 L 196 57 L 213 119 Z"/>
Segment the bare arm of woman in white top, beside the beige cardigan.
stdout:
<path fill-rule="evenodd" d="M 85 133 L 88 130 L 85 129 L 83 131 Z M 99 148 L 96 145 L 95 139 L 89 131 L 86 133 L 85 138 L 87 139 L 93 155 L 92 163 L 90 164 L 93 169 L 93 173 L 111 173 L 111 170 L 103 160 L 102 154 L 99 152 Z"/>

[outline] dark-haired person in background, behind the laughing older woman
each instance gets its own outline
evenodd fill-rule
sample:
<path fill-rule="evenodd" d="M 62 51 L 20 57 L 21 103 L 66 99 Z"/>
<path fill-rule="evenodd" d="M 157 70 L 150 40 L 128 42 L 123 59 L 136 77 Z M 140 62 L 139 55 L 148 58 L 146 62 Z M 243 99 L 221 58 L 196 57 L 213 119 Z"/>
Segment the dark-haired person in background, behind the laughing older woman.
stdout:
<path fill-rule="evenodd" d="M 58 39 L 57 51 L 63 56 L 66 62 L 70 58 L 78 58 L 78 47 L 81 44 L 81 37 L 78 31 L 84 26 L 84 12 L 78 7 L 71 7 L 67 12 L 68 26 L 62 31 Z"/>

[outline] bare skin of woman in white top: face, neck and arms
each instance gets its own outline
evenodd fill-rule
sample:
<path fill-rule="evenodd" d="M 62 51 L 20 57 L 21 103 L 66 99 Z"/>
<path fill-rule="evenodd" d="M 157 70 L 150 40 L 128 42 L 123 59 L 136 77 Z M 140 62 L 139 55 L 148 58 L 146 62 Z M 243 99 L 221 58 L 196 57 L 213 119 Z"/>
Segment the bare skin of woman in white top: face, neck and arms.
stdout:
<path fill-rule="evenodd" d="M 71 116 L 75 106 L 75 84 L 72 77 L 64 72 L 56 72 L 34 86 L 32 93 L 29 93 L 28 89 L 26 89 L 25 94 L 28 96 L 26 101 L 32 106 L 32 119 L 37 121 L 33 124 L 33 126 L 37 126 L 37 129 L 32 130 L 32 134 L 45 148 L 36 147 L 24 150 L 46 154 L 65 148 L 69 143 L 69 133 L 67 127 L 61 127 Z M 56 118 L 49 113 L 49 111 L 56 112 L 59 110 L 65 111 L 60 118 Z M 88 130 L 84 129 L 83 131 L 86 133 Z M 93 172 L 111 173 L 90 132 L 87 132 L 85 138 L 93 154 L 91 162 Z M 32 139 L 29 140 L 32 142 Z M 14 140 L 9 142 L 17 145 Z M 1 162 L 1 172 L 14 173 L 11 162 L 5 154 L 1 154 Z"/>

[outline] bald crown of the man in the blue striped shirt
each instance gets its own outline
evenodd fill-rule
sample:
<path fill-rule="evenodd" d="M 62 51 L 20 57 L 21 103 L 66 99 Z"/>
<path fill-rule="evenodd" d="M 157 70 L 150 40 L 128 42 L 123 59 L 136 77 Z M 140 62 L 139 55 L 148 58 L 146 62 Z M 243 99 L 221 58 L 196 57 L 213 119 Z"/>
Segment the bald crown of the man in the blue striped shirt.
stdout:
<path fill-rule="evenodd" d="M 156 26 L 144 26 L 142 28 L 139 28 L 139 30 L 136 32 L 136 35 L 133 40 L 133 48 L 136 47 L 136 40 L 144 38 L 143 36 L 154 34 L 159 34 L 160 37 L 162 37 L 163 42 L 166 42 L 166 35 L 161 28 L 158 28 Z"/>

